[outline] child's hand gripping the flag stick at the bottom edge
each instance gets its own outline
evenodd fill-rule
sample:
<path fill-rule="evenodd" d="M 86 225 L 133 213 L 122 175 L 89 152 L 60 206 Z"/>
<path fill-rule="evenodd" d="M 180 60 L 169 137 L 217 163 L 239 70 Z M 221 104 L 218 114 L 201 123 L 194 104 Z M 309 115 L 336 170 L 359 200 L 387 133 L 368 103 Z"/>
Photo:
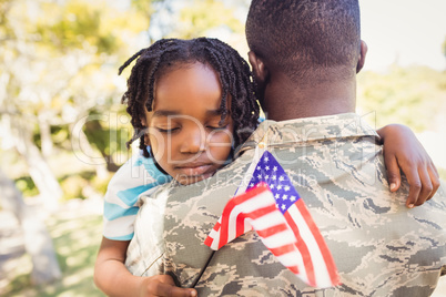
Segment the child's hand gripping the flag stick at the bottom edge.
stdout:
<path fill-rule="evenodd" d="M 169 275 L 158 275 L 142 279 L 139 296 L 195 297 L 197 293 L 195 289 L 176 287 Z"/>

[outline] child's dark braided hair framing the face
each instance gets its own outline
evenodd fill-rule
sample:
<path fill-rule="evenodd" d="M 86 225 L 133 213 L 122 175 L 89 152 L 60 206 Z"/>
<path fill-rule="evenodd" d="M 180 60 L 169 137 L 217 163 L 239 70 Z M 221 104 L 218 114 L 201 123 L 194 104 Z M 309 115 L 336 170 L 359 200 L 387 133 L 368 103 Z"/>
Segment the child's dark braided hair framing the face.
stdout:
<path fill-rule="evenodd" d="M 231 95 L 231 117 L 234 123 L 234 145 L 242 144 L 259 124 L 259 104 L 255 82 L 246 61 L 237 51 L 217 39 L 197 38 L 192 40 L 163 39 L 130 58 L 119 69 L 119 74 L 133 61 L 135 65 L 128 80 L 128 90 L 122 96 L 126 112 L 134 127 L 130 144 L 140 139 L 140 148 L 149 157 L 144 144 L 145 109 L 152 111 L 154 83 L 163 74 L 184 64 L 200 62 L 219 73 L 222 99 L 220 111 L 223 125 L 227 116 L 226 100 Z"/>

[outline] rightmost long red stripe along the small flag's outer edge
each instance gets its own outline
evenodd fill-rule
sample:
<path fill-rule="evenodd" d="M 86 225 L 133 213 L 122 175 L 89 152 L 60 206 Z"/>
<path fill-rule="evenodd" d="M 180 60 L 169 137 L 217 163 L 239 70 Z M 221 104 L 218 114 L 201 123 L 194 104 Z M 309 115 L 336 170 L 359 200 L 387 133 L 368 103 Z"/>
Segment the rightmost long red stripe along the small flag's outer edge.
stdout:
<path fill-rule="evenodd" d="M 322 257 L 324 258 L 325 265 L 327 267 L 330 279 L 333 284 L 339 283 L 339 276 L 336 273 L 336 265 L 330 253 L 328 247 L 325 244 L 324 237 L 322 236 L 320 229 L 317 228 L 316 224 L 312 219 L 312 215 L 310 214 L 308 209 L 306 208 L 304 203 L 296 204 L 297 209 L 301 212 L 302 216 L 305 218 L 306 224 L 308 225 L 310 231 L 313 234 L 314 239 L 316 240 L 317 245 L 320 246 Z M 307 219 L 310 218 L 310 219 Z"/>

